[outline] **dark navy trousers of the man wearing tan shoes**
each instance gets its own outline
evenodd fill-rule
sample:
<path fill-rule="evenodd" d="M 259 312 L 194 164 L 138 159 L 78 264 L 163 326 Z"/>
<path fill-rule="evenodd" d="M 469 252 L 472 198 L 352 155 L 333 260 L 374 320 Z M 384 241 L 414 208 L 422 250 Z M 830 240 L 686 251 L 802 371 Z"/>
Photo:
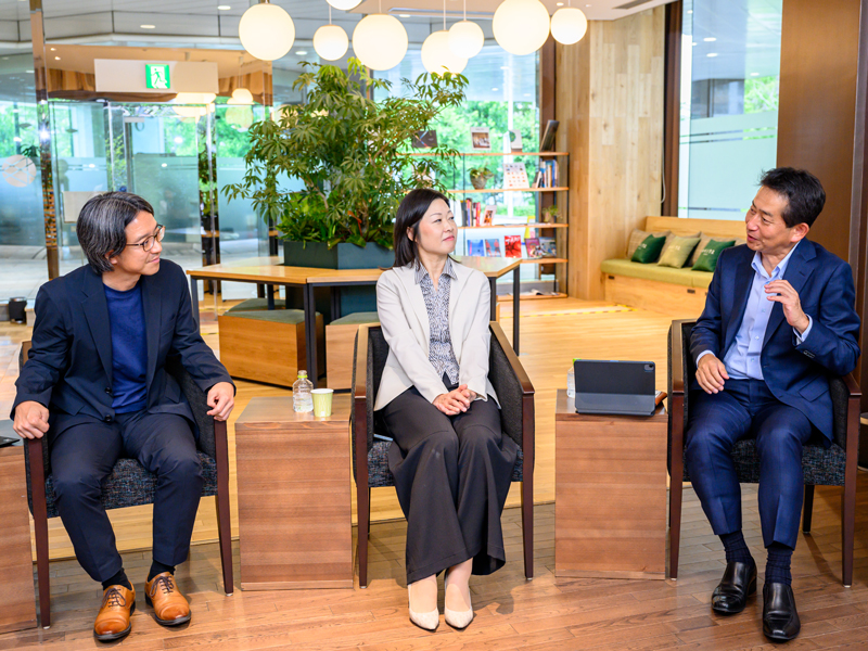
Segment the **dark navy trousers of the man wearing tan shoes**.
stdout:
<path fill-rule="evenodd" d="M 112 524 L 100 503 L 102 483 L 117 459 L 137 459 L 157 476 L 153 558 L 165 565 L 187 560 L 199 500 L 202 467 L 190 422 L 175 413 L 119 413 L 111 423 L 93 419 L 62 432 L 50 445 L 54 494 L 78 562 L 103 582 L 122 569 Z"/>

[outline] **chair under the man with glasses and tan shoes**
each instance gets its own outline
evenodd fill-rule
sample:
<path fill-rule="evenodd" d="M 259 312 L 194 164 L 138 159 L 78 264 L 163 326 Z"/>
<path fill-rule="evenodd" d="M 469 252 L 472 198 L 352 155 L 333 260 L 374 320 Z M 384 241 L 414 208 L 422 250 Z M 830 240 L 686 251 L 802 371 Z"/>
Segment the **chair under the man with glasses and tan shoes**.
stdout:
<path fill-rule="evenodd" d="M 20 368 L 27 360 L 30 342 L 22 345 Z M 207 395 L 193 381 L 178 360 L 166 365 L 178 381 L 199 425 L 199 460 L 205 484 L 202 495 L 217 496 L 217 529 L 220 540 L 224 589 L 227 597 L 233 591 L 232 538 L 229 519 L 229 447 L 226 437 L 226 421 L 208 416 Z M 49 587 L 48 519 L 59 515 L 54 499 L 50 456 L 47 437 L 27 439 L 24 446 L 27 472 L 27 501 L 34 515 L 36 537 L 36 567 L 39 583 L 39 612 L 42 627 L 51 626 L 51 590 Z M 122 509 L 150 505 L 154 501 L 156 475 L 149 473 L 135 459 L 118 459 L 112 474 L 102 487 L 102 503 L 106 509 Z"/>

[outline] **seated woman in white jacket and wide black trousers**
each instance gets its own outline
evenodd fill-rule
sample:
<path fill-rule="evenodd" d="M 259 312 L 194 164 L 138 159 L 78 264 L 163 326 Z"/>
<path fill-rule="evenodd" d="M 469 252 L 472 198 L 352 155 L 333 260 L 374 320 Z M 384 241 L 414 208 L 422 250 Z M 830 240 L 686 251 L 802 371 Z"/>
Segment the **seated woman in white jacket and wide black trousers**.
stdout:
<path fill-rule="evenodd" d="M 430 630 L 437 574 L 446 622 L 464 628 L 470 575 L 506 562 L 500 513 L 518 455 L 488 382 L 488 280 L 449 257 L 457 233 L 447 199 L 413 190 L 395 218 L 395 266 L 376 283 L 390 353 L 375 417 L 407 516 L 410 620 Z"/>

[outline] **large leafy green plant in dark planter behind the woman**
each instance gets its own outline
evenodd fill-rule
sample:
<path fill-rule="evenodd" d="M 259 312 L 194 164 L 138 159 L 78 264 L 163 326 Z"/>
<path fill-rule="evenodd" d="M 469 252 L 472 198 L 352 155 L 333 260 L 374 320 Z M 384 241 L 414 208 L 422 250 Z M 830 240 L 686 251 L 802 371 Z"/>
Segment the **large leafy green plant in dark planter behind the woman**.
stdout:
<path fill-rule="evenodd" d="M 293 86 L 307 89 L 307 102 L 251 126 L 244 178 L 224 192 L 230 201 L 250 199 L 273 220 L 288 265 L 391 266 L 398 203 L 413 188 L 445 189 L 437 177 L 457 154 L 434 148 L 413 156 L 411 139 L 463 101 L 467 78 L 425 74 L 403 80 L 405 97 L 374 101 L 392 85 L 372 78 L 357 59 L 349 59 L 348 74 L 333 65 L 304 65 Z M 278 179 L 286 177 L 302 188 L 282 189 Z"/>

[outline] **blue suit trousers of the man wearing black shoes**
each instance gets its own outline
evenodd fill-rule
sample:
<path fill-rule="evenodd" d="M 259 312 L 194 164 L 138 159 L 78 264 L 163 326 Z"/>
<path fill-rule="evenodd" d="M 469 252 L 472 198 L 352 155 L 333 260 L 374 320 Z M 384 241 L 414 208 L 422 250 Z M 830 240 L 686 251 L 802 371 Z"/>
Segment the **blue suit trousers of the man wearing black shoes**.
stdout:
<path fill-rule="evenodd" d="M 763 380 L 727 380 L 724 391 L 690 395 L 685 461 L 716 535 L 741 531 L 741 490 L 732 447 L 755 438 L 760 521 L 766 547 L 795 548 L 802 515 L 802 446 L 815 431 L 807 417 L 771 395 Z"/>

